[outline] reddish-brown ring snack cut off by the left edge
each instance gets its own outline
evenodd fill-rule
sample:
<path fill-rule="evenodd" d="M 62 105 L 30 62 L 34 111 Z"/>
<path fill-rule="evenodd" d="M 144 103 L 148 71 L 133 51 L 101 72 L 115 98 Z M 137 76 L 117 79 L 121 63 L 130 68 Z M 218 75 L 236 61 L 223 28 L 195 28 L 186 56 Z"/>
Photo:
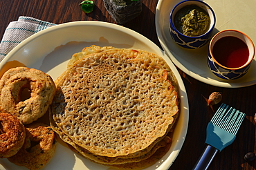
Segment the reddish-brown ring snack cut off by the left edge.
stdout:
<path fill-rule="evenodd" d="M 0 113 L 0 158 L 15 155 L 24 144 L 26 131 L 16 116 Z"/>

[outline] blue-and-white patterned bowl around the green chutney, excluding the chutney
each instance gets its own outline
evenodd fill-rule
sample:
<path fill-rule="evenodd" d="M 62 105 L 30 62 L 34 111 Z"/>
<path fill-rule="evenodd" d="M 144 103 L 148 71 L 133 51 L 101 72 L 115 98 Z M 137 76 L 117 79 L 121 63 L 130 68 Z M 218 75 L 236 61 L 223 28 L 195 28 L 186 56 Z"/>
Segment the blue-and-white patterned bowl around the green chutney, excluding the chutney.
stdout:
<path fill-rule="evenodd" d="M 189 37 L 189 36 L 183 35 L 183 33 L 181 33 L 179 29 L 175 27 L 175 24 L 174 24 L 176 13 L 179 12 L 181 8 L 184 8 L 185 6 L 190 6 L 190 5 L 198 6 L 199 8 L 207 12 L 210 17 L 210 26 L 208 31 L 205 32 L 203 35 L 199 35 L 197 37 Z M 212 36 L 212 30 L 215 26 L 215 22 L 216 22 L 216 19 L 215 19 L 214 12 L 212 8 L 210 8 L 210 6 L 208 6 L 208 4 L 206 4 L 205 2 L 197 1 L 197 0 L 181 1 L 180 3 L 176 4 L 176 6 L 174 6 L 174 8 L 172 9 L 172 12 L 170 13 L 170 32 L 172 35 L 172 39 L 174 39 L 176 44 L 179 44 L 184 48 L 190 48 L 190 49 L 200 48 L 210 40 Z"/>

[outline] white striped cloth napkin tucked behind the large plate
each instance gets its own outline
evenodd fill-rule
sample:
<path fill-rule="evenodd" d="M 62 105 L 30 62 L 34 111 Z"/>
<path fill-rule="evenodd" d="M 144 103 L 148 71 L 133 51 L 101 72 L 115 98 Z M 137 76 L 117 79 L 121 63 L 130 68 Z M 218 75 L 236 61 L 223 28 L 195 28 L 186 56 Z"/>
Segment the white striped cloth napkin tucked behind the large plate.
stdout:
<path fill-rule="evenodd" d="M 10 22 L 0 42 L 0 62 L 15 46 L 21 43 L 21 41 L 40 30 L 55 25 L 55 23 L 24 16 L 19 17 L 17 21 Z"/>

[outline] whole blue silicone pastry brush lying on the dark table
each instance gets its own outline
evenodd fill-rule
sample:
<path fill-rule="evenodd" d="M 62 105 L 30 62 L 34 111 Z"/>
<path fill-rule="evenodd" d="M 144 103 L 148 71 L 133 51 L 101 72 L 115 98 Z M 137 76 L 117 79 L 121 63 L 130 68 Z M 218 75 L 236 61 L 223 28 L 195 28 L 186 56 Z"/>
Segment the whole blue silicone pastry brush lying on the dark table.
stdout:
<path fill-rule="evenodd" d="M 244 113 L 236 111 L 235 108 L 229 108 L 226 104 L 221 104 L 208 123 L 205 140 L 207 146 L 193 170 L 208 169 L 216 153 L 222 151 L 235 140 L 244 117 Z"/>

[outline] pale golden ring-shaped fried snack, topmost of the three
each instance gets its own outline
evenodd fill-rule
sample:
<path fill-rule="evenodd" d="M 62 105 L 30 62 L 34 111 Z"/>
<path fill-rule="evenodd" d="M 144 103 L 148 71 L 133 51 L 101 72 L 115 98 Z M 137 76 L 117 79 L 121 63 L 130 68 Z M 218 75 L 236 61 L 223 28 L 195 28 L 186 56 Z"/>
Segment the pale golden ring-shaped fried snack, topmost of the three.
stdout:
<path fill-rule="evenodd" d="M 30 97 L 25 100 L 24 89 L 30 91 Z M 30 124 L 46 113 L 55 90 L 53 79 L 41 70 L 10 68 L 0 80 L 1 111 L 17 116 L 23 124 Z"/>

